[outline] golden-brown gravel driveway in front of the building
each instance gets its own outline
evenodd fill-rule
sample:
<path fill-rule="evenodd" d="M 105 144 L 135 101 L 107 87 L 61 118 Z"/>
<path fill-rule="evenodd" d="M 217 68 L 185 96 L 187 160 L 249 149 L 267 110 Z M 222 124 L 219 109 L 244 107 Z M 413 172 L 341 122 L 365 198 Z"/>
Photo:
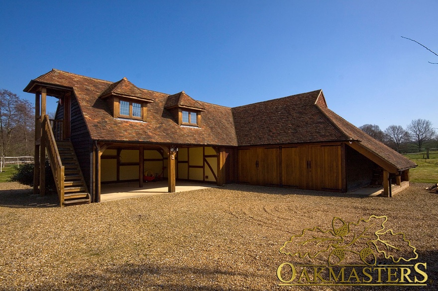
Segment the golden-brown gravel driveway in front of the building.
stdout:
<path fill-rule="evenodd" d="M 380 198 L 228 185 L 61 209 L 0 183 L 0 290 L 300 290 L 278 285 L 294 260 L 283 243 L 371 215 L 406 234 L 436 290 L 438 194 L 426 186 Z"/>

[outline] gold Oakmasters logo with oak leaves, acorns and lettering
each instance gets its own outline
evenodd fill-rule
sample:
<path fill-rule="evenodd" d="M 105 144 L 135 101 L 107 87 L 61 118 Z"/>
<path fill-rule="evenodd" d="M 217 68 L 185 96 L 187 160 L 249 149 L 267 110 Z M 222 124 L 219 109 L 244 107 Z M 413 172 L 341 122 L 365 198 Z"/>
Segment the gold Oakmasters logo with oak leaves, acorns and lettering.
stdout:
<path fill-rule="evenodd" d="M 310 264 L 285 262 L 277 268 L 279 285 L 425 286 L 426 263 L 413 264 L 416 248 L 402 232 L 385 226 L 386 216 L 347 222 L 335 217 L 331 227 L 305 228 L 292 235 L 280 253 Z"/>

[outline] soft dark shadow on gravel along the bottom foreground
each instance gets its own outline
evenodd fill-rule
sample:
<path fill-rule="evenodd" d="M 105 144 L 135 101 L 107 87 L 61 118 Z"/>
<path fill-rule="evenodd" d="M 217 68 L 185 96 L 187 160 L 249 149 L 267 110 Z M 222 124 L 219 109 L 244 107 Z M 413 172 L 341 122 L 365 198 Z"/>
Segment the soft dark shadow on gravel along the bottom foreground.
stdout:
<path fill-rule="evenodd" d="M 30 290 L 271 290 L 272 274 L 264 278 L 251 272 L 209 267 L 177 267 L 125 263 L 96 270 L 72 273 L 58 278 L 57 284 L 31 286 Z M 274 277 L 275 278 L 275 277 Z M 260 282 L 270 282 L 264 288 Z M 253 285 L 251 285 L 251 283 Z M 258 283 L 258 284 L 257 284 Z M 271 286 L 270 286 L 271 285 Z M 30 286 L 28 286 L 30 287 Z"/>

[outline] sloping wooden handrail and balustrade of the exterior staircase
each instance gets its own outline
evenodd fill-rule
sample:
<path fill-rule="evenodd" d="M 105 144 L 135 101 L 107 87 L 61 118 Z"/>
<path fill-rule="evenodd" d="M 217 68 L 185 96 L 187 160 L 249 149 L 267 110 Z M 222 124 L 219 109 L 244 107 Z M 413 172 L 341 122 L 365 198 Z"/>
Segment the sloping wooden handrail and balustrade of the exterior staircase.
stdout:
<path fill-rule="evenodd" d="M 61 124 L 59 128 L 62 129 L 62 120 L 53 120 L 54 127 L 56 128 Z M 44 139 L 44 144 L 47 148 L 47 154 L 49 156 L 50 166 L 52 168 L 53 178 L 56 184 L 56 190 L 58 192 L 59 203 L 61 207 L 64 206 L 64 176 L 65 170 L 62 165 L 61 157 L 58 152 L 58 146 L 56 145 L 57 139 L 55 139 L 55 135 L 52 131 L 51 121 L 49 120 L 49 116 L 45 115 L 41 124 L 42 129 L 42 138 Z M 61 138 L 62 139 L 62 130 Z M 57 131 L 59 133 L 59 131 Z"/>

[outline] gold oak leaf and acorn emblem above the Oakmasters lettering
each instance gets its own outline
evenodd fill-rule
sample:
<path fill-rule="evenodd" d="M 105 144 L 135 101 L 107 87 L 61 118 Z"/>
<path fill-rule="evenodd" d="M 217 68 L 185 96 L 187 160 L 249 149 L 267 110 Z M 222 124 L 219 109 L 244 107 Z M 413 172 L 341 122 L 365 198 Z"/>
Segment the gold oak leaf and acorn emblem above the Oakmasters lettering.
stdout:
<path fill-rule="evenodd" d="M 394 263 L 418 258 L 416 248 L 404 233 L 385 228 L 386 216 L 360 218 L 357 222 L 346 222 L 342 218 L 331 220 L 331 229 L 321 227 L 305 228 L 301 234 L 292 235 L 283 244 L 280 253 L 314 259 L 328 253 L 329 266 L 337 266 L 345 258 L 358 256 L 369 266 L 377 264 L 377 258 L 384 256 Z"/>

